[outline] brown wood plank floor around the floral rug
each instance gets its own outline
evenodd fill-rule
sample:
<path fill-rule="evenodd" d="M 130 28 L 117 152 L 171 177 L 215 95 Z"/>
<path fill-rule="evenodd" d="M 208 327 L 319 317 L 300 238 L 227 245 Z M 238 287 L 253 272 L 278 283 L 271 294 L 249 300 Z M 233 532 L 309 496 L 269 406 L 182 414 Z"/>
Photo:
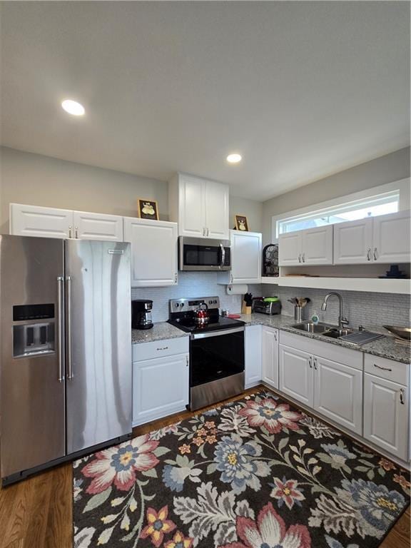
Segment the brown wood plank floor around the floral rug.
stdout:
<path fill-rule="evenodd" d="M 133 434 L 150 432 L 192 415 L 195 413 L 181 412 L 135 428 Z M 71 489 L 70 463 L 0 489 L 0 548 L 72 548 Z M 380 548 L 410 548 L 410 517 L 408 507 Z"/>

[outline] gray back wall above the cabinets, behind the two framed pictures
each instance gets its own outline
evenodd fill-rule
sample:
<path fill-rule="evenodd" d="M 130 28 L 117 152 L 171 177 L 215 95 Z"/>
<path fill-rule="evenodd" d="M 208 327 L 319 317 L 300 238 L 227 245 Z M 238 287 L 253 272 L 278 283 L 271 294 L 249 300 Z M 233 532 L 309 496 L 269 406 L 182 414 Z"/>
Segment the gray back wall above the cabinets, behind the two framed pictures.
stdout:
<path fill-rule="evenodd" d="M 164 181 L 0 148 L 0 233 L 9 231 L 9 203 L 135 217 L 137 198 L 157 200 L 160 218 L 168 220 Z M 250 229 L 261 232 L 262 211 L 260 202 L 230 196 L 230 228 L 235 213 L 243 213 Z"/>

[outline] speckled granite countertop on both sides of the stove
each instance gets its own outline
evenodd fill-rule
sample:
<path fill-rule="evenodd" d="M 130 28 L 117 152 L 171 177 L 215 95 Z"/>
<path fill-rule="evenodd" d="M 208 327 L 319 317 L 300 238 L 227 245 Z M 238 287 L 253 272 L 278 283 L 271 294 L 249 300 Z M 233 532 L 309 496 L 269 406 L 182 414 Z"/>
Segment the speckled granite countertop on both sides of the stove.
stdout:
<path fill-rule="evenodd" d="M 322 335 L 318 335 L 318 333 L 306 333 L 305 331 L 293 329 L 291 326 L 295 324 L 295 320 L 292 316 L 285 316 L 283 314 L 269 316 L 266 314 L 253 313 L 241 314 L 240 320 L 242 320 L 245 325 L 268 325 L 270 328 L 277 328 L 287 331 L 288 333 L 301 335 L 302 337 L 321 340 L 323 342 L 328 342 L 330 345 L 343 346 L 345 348 L 350 348 L 351 350 L 365 352 L 366 354 L 386 357 L 388 360 L 395 360 L 396 362 L 411 362 L 411 346 L 398 344 L 390 335 L 385 336 L 382 339 L 377 339 L 373 342 L 368 342 L 366 345 L 356 346 L 339 339 L 325 338 Z M 385 330 L 378 325 L 364 325 L 364 328 L 374 331 L 375 333 L 385 333 Z M 187 336 L 188 333 L 182 331 L 181 329 L 175 328 L 167 322 L 155 323 L 151 329 L 133 329 L 131 332 L 133 344 Z"/>

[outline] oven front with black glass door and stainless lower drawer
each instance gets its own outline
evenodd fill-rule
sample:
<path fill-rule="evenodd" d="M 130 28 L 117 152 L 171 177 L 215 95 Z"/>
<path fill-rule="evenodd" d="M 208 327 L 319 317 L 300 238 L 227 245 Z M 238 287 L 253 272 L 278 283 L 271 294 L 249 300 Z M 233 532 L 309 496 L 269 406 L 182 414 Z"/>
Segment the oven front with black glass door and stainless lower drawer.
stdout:
<path fill-rule="evenodd" d="M 190 408 L 244 391 L 244 328 L 191 335 Z"/>

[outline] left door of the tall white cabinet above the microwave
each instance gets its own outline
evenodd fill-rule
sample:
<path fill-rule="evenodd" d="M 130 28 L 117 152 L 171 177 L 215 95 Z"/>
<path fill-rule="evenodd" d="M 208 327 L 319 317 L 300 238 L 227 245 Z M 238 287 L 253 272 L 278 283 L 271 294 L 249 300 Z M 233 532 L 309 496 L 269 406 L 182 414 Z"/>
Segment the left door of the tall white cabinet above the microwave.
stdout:
<path fill-rule="evenodd" d="M 203 238 L 205 185 L 202 179 L 181 175 L 178 182 L 178 235 Z"/>

